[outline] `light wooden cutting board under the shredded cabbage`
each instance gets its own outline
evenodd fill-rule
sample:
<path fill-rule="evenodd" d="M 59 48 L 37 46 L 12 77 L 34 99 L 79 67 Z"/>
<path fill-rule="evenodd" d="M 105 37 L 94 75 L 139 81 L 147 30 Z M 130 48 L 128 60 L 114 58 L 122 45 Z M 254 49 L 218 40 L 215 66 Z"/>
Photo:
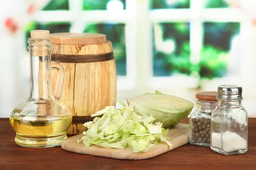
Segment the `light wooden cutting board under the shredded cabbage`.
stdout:
<path fill-rule="evenodd" d="M 131 159 L 131 160 L 140 160 L 140 159 L 148 159 L 154 156 L 165 153 L 169 150 L 175 149 L 176 147 L 182 146 L 189 142 L 189 125 L 180 123 L 176 125 L 174 128 L 170 128 L 168 132 L 168 136 L 172 138 L 170 141 L 173 146 L 170 148 L 166 143 L 159 142 L 157 145 L 151 147 L 148 152 L 140 152 L 133 153 L 133 149 L 130 147 L 126 147 L 125 149 L 115 149 L 115 148 L 104 148 L 96 145 L 91 145 L 89 147 L 84 146 L 82 142 L 77 143 L 77 139 L 81 139 L 84 136 L 83 134 L 79 134 L 76 136 L 72 136 L 68 139 L 65 139 L 61 143 L 61 147 L 64 150 L 81 153 L 86 155 L 93 156 L 102 156 L 107 158 L 114 159 Z"/>

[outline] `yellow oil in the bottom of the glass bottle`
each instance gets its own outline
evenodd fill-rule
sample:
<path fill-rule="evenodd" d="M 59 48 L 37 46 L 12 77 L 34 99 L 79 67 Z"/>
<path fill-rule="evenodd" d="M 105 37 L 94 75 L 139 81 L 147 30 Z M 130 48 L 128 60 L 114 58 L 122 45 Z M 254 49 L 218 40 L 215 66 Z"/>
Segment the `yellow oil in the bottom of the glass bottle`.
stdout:
<path fill-rule="evenodd" d="M 24 147 L 58 146 L 67 138 L 71 117 L 10 117 L 12 128 L 16 131 L 15 142 Z M 38 140 L 40 139 L 40 140 Z"/>

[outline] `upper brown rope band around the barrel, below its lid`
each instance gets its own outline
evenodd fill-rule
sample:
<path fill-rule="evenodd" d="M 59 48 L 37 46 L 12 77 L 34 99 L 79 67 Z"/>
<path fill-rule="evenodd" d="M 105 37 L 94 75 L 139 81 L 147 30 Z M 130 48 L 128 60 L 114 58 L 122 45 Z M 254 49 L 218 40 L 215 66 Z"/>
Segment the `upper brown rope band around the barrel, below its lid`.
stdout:
<path fill-rule="evenodd" d="M 114 58 L 113 51 L 104 54 L 87 54 L 87 55 L 63 55 L 63 54 L 52 54 L 52 61 L 55 62 L 100 62 L 108 61 Z"/>

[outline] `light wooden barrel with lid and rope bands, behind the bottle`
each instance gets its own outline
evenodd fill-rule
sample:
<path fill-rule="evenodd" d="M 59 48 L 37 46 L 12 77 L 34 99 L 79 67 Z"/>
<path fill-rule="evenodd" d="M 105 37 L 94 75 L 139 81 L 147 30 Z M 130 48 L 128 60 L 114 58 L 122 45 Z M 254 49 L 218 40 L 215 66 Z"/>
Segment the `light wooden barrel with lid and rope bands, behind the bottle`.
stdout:
<path fill-rule="evenodd" d="M 52 62 L 59 62 L 65 71 L 61 102 L 73 114 L 67 134 L 79 134 L 84 122 L 106 106 L 115 106 L 116 63 L 112 43 L 104 34 L 56 33 L 52 40 Z M 52 71 L 55 89 L 56 71 Z"/>

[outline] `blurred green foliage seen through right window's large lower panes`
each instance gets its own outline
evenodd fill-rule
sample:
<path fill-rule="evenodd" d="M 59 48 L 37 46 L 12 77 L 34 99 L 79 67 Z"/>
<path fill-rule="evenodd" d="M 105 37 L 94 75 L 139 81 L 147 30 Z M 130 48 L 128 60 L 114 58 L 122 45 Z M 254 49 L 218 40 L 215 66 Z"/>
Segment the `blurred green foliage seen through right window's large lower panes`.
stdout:
<path fill-rule="evenodd" d="M 204 44 L 198 64 L 190 62 L 189 24 L 161 23 L 160 26 L 163 42 L 174 40 L 176 45 L 171 54 L 154 47 L 154 76 L 171 76 L 175 73 L 191 75 L 195 71 L 201 78 L 225 75 L 230 42 L 239 33 L 239 23 L 204 23 Z"/>

